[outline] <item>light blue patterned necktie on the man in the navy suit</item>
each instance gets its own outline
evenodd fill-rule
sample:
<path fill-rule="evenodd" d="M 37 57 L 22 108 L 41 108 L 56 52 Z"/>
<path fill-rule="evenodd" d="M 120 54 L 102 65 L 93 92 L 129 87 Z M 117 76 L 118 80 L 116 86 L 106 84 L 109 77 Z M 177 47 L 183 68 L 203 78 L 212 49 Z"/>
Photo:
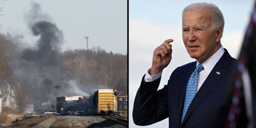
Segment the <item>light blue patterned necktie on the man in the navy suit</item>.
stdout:
<path fill-rule="evenodd" d="M 197 74 L 203 70 L 203 65 L 199 64 L 195 71 L 191 74 L 188 83 L 187 83 L 187 89 L 186 89 L 186 96 L 184 100 L 184 106 L 182 111 L 182 117 L 181 117 L 181 123 L 186 115 L 187 109 L 191 101 L 196 95 L 196 89 L 197 89 Z"/>

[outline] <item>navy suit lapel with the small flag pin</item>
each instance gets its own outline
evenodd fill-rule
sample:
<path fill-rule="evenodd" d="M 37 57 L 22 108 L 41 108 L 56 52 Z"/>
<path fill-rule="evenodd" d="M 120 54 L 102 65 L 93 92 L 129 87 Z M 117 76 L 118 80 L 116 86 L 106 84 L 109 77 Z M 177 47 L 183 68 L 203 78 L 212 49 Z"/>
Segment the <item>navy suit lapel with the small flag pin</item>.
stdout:
<path fill-rule="evenodd" d="M 216 63 L 210 74 L 208 75 L 207 79 L 202 84 L 201 88 L 198 90 L 197 94 L 195 95 L 194 99 L 190 103 L 187 113 L 183 119 L 183 122 L 181 126 L 186 122 L 190 114 L 194 111 L 194 109 L 197 107 L 197 105 L 202 101 L 202 99 L 208 95 L 210 90 L 218 83 L 219 79 L 226 73 L 229 61 L 231 56 L 228 54 L 227 50 L 225 49 L 225 53 L 223 56 L 219 59 L 219 61 Z M 220 72 L 220 74 L 217 74 L 216 72 Z M 184 100 L 183 100 L 184 101 Z"/>

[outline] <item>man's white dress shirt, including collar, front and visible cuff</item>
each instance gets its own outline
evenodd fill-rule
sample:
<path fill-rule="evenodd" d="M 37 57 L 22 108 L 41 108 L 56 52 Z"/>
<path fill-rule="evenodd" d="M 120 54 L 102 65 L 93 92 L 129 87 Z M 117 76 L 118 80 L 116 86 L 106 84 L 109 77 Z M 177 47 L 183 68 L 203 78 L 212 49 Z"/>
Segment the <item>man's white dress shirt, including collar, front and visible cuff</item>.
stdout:
<path fill-rule="evenodd" d="M 208 75 L 212 71 L 213 67 L 216 65 L 216 63 L 219 61 L 219 59 L 222 57 L 224 52 L 225 52 L 224 48 L 223 48 L 223 46 L 221 46 L 221 48 L 219 48 L 216 53 L 214 53 L 210 58 L 208 58 L 206 61 L 204 61 L 202 63 L 204 70 L 202 70 L 198 74 L 197 91 L 200 89 L 200 87 L 202 86 L 203 82 L 208 77 Z M 198 66 L 198 65 L 199 65 L 199 62 L 197 61 L 197 65 L 196 66 Z M 150 75 L 148 72 L 149 72 L 149 69 L 147 70 L 146 75 L 144 77 L 144 81 L 145 82 L 155 81 L 156 79 L 160 78 L 161 75 L 162 75 L 162 72 L 159 73 L 159 74 L 156 74 L 156 75 Z"/>

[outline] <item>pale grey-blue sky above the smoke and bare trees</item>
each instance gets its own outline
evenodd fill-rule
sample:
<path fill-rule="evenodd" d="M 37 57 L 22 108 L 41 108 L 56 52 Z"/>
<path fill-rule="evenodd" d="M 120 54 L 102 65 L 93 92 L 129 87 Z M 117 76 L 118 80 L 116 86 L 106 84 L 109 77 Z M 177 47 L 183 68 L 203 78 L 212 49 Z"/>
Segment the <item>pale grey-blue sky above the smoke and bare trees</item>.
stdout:
<path fill-rule="evenodd" d="M 42 11 L 52 17 L 63 31 L 67 48 L 86 47 L 85 36 L 89 36 L 88 48 L 100 46 L 106 52 L 127 53 L 127 1 L 126 0 L 9 0 L 0 4 L 1 32 L 23 35 L 26 45 L 34 45 L 24 14 L 28 13 L 31 1 L 41 4 Z"/>

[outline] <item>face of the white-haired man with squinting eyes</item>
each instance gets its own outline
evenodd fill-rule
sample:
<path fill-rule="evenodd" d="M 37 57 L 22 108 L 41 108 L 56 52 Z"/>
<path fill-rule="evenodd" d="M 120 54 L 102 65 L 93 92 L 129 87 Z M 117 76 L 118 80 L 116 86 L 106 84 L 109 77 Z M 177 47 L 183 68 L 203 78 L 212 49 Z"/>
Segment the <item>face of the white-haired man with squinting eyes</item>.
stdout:
<path fill-rule="evenodd" d="M 203 63 L 218 51 L 220 43 L 212 30 L 210 9 L 186 11 L 182 19 L 182 38 L 188 54 Z"/>

